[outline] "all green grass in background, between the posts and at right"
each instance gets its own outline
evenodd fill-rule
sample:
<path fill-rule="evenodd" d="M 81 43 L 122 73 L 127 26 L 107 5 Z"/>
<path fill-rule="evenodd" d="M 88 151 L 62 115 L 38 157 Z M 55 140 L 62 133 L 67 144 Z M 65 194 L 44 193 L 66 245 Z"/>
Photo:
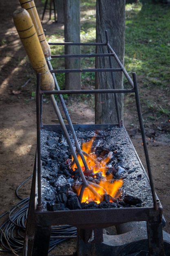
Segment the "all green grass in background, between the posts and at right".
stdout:
<path fill-rule="evenodd" d="M 81 0 L 81 42 L 95 42 L 95 0 Z M 141 107 L 144 120 L 170 119 L 168 103 L 170 84 L 170 6 L 155 4 L 151 0 L 126 4 L 126 38 L 124 65 L 129 74 L 137 73 Z M 63 41 L 64 31 L 47 38 L 49 41 Z M 82 53 L 95 52 L 94 47 L 81 49 Z M 64 47 L 57 49 L 57 54 L 64 53 Z M 53 48 L 52 48 L 53 54 Z M 54 60 L 55 61 L 55 60 Z M 56 68 L 64 68 L 54 63 Z M 82 59 L 82 68 L 94 67 L 95 59 Z M 60 75 L 58 75 L 60 76 Z M 63 88 L 64 77 L 58 77 Z M 82 84 L 95 85 L 95 74 L 82 74 Z M 124 83 L 126 87 L 126 82 Z M 124 108 L 134 105 L 130 95 L 124 97 Z M 150 115 L 150 112 L 153 114 Z"/>

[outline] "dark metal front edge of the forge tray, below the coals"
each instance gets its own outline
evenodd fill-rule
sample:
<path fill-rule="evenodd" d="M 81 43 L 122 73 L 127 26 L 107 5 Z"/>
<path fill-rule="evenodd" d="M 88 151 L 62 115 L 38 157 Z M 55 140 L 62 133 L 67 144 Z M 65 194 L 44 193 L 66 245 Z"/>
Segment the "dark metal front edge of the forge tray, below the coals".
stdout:
<path fill-rule="evenodd" d="M 109 209 L 84 209 L 66 211 L 44 211 L 35 213 L 40 225 L 71 225 L 81 229 L 106 228 L 131 221 L 158 222 L 162 208 L 122 207 Z"/>

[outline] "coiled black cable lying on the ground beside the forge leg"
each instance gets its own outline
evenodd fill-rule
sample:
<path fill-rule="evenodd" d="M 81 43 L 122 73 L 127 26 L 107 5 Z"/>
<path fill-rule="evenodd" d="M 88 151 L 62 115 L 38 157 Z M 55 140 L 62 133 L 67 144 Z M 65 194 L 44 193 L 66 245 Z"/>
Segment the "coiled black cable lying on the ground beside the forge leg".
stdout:
<path fill-rule="evenodd" d="M 12 252 L 16 254 L 17 252 L 22 251 L 29 208 L 29 197 L 22 199 L 19 196 L 18 191 L 24 183 L 31 179 L 31 177 L 32 175 L 22 182 L 15 191 L 20 202 L 0 216 L 0 218 L 2 218 L 6 214 L 9 214 L 8 220 L 6 220 L 0 227 L 0 252 Z M 75 238 L 76 236 L 76 227 L 69 225 L 53 226 L 51 228 L 49 252 L 64 240 Z"/>

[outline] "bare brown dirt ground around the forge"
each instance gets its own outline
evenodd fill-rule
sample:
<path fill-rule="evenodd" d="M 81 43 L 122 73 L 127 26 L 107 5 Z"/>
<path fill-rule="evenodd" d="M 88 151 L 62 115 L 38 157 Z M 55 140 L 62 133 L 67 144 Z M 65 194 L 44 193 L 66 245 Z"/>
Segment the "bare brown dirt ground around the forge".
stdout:
<path fill-rule="evenodd" d="M 23 86 L 33 70 L 26 64 L 26 53 L 13 25 L 13 11 L 19 7 L 18 2 L 13 0 L 6 4 L 6 1 L 0 1 L 0 215 L 19 201 L 15 189 L 32 175 L 36 149 L 36 106 L 32 94 L 36 81 L 31 78 Z M 56 26 L 61 26 L 46 23 L 46 20 L 43 24 L 51 34 L 56 31 Z M 67 104 L 73 124 L 94 124 L 93 108 L 83 101 Z M 124 124 L 141 162 L 146 166 L 138 127 L 129 125 L 129 120 L 134 117 L 133 111 L 134 108 L 125 111 Z M 53 107 L 47 100 L 43 105 L 43 121 L 44 124 L 57 124 Z M 146 136 L 155 190 L 166 219 L 163 230 L 170 233 L 170 122 L 148 123 Z M 20 190 L 22 198 L 29 196 L 30 186 L 31 181 Z M 0 223 L 3 221 L 1 219 Z M 60 254 L 68 243 L 75 246 L 74 240 L 61 244 Z M 0 252 L 0 255 L 9 254 Z"/>

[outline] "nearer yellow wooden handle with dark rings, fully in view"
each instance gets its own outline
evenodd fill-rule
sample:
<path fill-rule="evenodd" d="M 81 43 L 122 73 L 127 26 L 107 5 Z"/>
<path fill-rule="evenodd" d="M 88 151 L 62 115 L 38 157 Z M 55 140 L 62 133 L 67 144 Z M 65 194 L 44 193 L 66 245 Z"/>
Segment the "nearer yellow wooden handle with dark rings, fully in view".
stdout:
<path fill-rule="evenodd" d="M 46 63 L 31 16 L 26 9 L 20 8 L 14 11 L 13 21 L 33 69 L 41 74 L 41 90 L 53 90 L 53 75 Z"/>

